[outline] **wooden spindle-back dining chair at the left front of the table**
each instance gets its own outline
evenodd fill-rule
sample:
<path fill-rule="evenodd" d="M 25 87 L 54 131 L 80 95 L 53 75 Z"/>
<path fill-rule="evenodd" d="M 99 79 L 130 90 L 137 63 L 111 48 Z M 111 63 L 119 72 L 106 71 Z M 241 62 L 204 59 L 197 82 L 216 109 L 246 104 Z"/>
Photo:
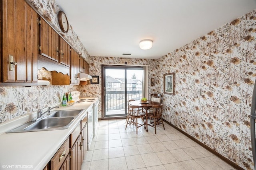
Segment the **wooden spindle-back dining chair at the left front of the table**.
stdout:
<path fill-rule="evenodd" d="M 138 134 L 138 127 L 141 127 L 144 125 L 144 128 L 146 128 L 145 121 L 143 118 L 145 116 L 145 113 L 140 111 L 139 106 L 133 106 L 133 105 L 128 104 L 128 115 L 127 116 L 128 116 L 128 120 L 126 121 L 125 129 L 127 128 L 128 123 L 136 125 L 136 134 Z M 138 123 L 138 118 L 141 118 L 143 124 Z M 129 121 L 129 119 L 130 119 L 130 121 Z"/>

